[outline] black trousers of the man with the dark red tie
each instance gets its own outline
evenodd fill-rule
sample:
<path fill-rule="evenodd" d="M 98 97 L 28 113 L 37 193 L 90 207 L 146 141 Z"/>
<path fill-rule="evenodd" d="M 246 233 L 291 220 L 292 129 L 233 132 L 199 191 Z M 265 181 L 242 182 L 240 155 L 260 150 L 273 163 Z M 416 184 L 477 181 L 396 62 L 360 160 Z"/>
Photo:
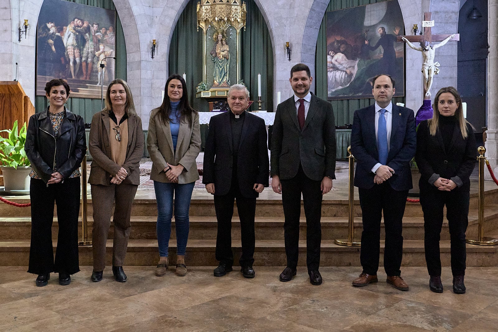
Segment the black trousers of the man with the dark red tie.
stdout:
<path fill-rule="evenodd" d="M 306 216 L 306 265 L 308 271 L 320 267 L 320 246 L 322 242 L 322 191 L 321 181 L 308 178 L 301 166 L 295 177 L 281 180 L 282 206 L 285 221 L 285 254 L 287 266 L 295 269 L 299 256 L 299 219 L 301 216 L 301 193 Z"/>

